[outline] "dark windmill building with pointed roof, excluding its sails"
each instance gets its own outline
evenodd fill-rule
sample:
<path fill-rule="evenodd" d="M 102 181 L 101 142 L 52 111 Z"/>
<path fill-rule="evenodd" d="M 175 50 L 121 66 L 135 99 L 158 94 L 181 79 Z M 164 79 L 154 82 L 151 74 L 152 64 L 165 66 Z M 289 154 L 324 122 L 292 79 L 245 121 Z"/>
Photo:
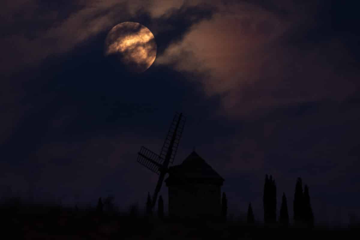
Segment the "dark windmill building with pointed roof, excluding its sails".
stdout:
<path fill-rule="evenodd" d="M 169 168 L 165 183 L 170 217 L 220 216 L 223 182 L 224 178 L 193 151 L 183 163 Z"/>

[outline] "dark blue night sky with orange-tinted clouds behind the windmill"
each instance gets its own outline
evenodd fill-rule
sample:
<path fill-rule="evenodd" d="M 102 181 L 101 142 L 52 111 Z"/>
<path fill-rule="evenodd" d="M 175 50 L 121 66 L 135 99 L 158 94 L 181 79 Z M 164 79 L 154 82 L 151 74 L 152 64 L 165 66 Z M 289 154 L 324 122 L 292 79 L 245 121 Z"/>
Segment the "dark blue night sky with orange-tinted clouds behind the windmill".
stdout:
<path fill-rule="evenodd" d="M 1 6 L 0 193 L 145 206 L 175 112 L 174 164 L 195 149 L 222 177 L 229 213 L 263 220 L 265 174 L 292 219 L 297 177 L 315 221 L 360 214 L 359 6 L 330 0 L 12 0 Z M 157 43 L 144 73 L 104 57 L 121 22 Z M 167 204 L 167 188 L 161 193 Z M 279 212 L 278 212 L 279 214 Z"/>

